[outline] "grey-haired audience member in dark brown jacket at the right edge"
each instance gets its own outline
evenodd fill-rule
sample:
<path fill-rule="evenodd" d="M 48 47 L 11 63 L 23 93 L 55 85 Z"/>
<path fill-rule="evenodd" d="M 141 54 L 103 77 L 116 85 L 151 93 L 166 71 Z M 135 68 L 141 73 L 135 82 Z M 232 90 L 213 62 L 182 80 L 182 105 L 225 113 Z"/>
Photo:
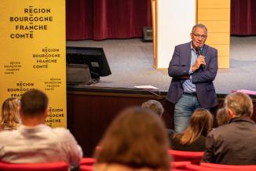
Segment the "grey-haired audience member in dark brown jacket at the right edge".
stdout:
<path fill-rule="evenodd" d="M 256 125 L 251 120 L 251 98 L 244 93 L 232 93 L 225 97 L 224 107 L 231 120 L 208 134 L 202 162 L 255 165 Z"/>

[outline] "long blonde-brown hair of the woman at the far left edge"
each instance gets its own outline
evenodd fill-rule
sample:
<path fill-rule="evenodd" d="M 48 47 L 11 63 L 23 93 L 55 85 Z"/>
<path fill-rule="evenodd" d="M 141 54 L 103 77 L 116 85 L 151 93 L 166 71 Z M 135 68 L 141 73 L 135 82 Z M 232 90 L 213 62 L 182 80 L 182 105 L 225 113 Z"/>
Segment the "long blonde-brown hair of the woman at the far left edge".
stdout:
<path fill-rule="evenodd" d="M 2 104 L 0 130 L 16 129 L 20 126 L 20 100 L 10 97 Z"/>

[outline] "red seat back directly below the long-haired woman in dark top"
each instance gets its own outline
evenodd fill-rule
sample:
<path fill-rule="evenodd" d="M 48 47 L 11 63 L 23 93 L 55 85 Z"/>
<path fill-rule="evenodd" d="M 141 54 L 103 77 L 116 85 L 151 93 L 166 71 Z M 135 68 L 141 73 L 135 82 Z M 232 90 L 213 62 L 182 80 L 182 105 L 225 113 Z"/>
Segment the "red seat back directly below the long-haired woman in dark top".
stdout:
<path fill-rule="evenodd" d="M 174 161 L 190 161 L 192 164 L 197 164 L 201 162 L 203 157 L 203 151 L 175 151 L 169 150 L 170 155 L 173 156 Z"/>

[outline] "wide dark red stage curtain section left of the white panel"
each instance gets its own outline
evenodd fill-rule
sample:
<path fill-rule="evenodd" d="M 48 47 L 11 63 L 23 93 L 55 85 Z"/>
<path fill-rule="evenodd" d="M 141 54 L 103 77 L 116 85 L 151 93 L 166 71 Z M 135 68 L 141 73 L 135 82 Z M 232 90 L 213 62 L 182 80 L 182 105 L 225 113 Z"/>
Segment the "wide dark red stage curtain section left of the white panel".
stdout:
<path fill-rule="evenodd" d="M 67 40 L 137 38 L 151 26 L 150 0 L 66 0 Z"/>

